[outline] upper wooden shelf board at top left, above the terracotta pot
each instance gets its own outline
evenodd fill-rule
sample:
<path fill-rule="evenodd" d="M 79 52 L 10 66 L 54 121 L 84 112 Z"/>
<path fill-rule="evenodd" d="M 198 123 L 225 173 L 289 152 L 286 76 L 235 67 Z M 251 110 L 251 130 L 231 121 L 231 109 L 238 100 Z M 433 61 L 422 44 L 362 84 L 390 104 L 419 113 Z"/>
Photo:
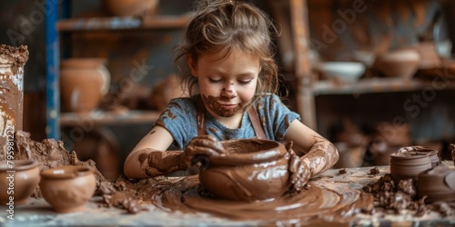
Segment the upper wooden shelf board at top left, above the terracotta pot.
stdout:
<path fill-rule="evenodd" d="M 59 20 L 59 32 L 179 29 L 187 25 L 188 15 L 156 15 L 144 19 L 135 16 L 70 18 Z"/>

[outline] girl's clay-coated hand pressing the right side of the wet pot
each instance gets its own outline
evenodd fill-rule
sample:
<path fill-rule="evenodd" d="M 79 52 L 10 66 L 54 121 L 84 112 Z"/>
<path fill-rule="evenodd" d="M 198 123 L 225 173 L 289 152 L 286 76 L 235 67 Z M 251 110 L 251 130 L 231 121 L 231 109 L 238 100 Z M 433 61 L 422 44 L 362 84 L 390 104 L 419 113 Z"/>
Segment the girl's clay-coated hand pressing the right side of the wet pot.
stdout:
<path fill-rule="evenodd" d="M 308 164 L 302 160 L 303 158 L 300 158 L 294 150 L 292 150 L 292 144 L 292 142 L 286 144 L 286 148 L 290 154 L 288 169 L 291 173 L 290 181 L 292 183 L 292 190 L 298 192 L 308 183 L 311 172 Z"/>

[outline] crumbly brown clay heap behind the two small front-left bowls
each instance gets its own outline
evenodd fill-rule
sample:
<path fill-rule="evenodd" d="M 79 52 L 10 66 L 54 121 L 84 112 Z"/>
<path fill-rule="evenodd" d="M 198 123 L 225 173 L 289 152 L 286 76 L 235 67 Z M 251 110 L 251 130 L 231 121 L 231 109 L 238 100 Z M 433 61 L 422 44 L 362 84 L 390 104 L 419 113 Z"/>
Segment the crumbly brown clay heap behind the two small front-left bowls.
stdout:
<path fill-rule="evenodd" d="M 68 152 L 62 141 L 45 139 L 43 142 L 35 142 L 30 138 L 30 133 L 18 131 L 15 133 L 15 160 L 35 160 L 40 163 L 40 171 L 55 168 L 62 165 L 80 165 L 94 168 L 96 176 L 96 193 L 101 182 L 106 182 L 106 178 L 96 169 L 96 163 L 92 160 L 86 162 L 77 159 L 76 152 Z M 0 156 L 0 160 L 5 157 Z M 36 198 L 41 198 L 40 187 L 36 187 L 34 194 Z"/>

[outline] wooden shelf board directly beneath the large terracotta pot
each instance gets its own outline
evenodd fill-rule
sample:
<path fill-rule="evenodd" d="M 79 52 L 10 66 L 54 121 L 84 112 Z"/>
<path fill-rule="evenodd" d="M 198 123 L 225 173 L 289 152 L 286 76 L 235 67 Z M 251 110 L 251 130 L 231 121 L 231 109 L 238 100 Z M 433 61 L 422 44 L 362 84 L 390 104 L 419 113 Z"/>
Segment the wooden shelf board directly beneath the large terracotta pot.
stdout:
<path fill-rule="evenodd" d="M 91 113 L 61 113 L 61 126 L 81 126 L 86 123 L 122 124 L 122 123 L 154 123 L 159 117 L 155 111 L 126 111 L 122 113 L 93 111 Z"/>

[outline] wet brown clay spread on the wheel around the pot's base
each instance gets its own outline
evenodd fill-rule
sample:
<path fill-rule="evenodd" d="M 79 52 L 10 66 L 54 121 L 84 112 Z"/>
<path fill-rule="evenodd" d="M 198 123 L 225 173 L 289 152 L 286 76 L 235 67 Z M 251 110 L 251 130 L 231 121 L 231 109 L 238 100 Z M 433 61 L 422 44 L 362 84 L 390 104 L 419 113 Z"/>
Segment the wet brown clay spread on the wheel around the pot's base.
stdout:
<path fill-rule="evenodd" d="M 130 212 L 140 211 L 139 204 L 152 203 L 169 212 L 204 212 L 263 223 L 304 223 L 318 218 L 348 222 L 356 213 L 373 208 L 372 196 L 352 190 L 348 184 L 333 183 L 330 178 L 311 182 L 300 192 L 285 193 L 275 200 L 262 202 L 220 199 L 199 183 L 197 175 L 183 179 L 156 177 L 138 182 L 119 178 L 105 186 L 106 204 L 132 210 Z"/>

